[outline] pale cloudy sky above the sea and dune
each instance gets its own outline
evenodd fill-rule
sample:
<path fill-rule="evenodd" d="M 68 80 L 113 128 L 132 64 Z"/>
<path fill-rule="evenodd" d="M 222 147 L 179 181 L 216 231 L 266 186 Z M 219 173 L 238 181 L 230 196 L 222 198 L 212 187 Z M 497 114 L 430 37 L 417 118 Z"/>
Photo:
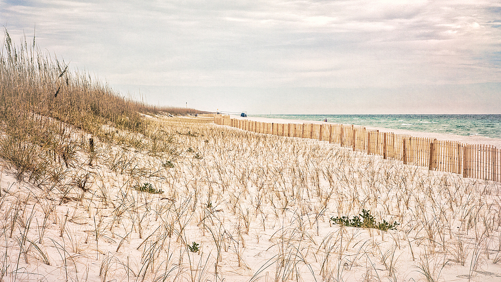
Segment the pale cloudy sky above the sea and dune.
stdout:
<path fill-rule="evenodd" d="M 501 114 L 499 0 L 0 0 L 0 24 L 160 106 Z"/>

